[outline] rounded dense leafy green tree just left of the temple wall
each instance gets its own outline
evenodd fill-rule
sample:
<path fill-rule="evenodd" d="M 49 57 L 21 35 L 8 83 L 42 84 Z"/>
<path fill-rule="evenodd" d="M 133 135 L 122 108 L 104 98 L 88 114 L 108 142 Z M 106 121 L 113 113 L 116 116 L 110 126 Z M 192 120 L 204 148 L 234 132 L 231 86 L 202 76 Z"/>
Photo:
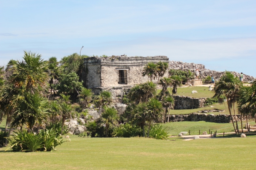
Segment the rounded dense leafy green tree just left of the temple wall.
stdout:
<path fill-rule="evenodd" d="M 83 82 L 79 82 L 79 77 L 75 72 L 70 72 L 68 74 L 61 74 L 58 79 L 59 84 L 57 85 L 58 93 L 71 94 L 76 91 L 79 95 L 79 91 L 83 87 Z"/>

